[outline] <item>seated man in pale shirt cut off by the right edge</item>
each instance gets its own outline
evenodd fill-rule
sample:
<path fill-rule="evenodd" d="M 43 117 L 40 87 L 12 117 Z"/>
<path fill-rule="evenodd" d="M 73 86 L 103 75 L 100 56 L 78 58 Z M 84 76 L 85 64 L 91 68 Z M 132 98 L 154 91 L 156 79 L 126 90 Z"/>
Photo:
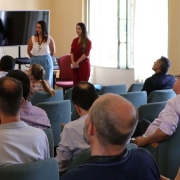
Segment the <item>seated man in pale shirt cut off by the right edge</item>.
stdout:
<path fill-rule="evenodd" d="M 169 99 L 165 108 L 160 112 L 157 119 L 155 119 L 143 137 L 135 139 L 137 146 L 145 146 L 151 143 L 157 143 L 165 140 L 171 136 L 177 128 L 180 117 L 180 74 L 173 86 L 176 97 Z"/>

